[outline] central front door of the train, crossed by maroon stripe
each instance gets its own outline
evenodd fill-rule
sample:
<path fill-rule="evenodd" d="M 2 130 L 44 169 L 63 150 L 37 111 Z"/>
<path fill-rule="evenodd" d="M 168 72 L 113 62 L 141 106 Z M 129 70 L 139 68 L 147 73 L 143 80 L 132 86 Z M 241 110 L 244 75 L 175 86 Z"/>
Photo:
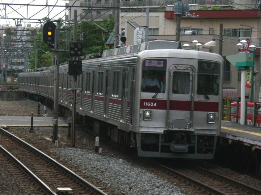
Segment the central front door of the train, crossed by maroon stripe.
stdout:
<path fill-rule="evenodd" d="M 170 69 L 168 91 L 168 129 L 190 129 L 193 111 L 193 69 L 173 65 Z"/>

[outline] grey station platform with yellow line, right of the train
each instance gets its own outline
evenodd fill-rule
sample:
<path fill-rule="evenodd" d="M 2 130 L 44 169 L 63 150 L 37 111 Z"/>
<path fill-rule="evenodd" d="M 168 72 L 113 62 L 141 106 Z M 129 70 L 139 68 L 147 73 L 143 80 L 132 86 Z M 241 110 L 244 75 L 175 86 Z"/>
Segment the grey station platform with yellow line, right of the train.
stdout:
<path fill-rule="evenodd" d="M 223 120 L 221 122 L 221 138 L 241 142 L 250 146 L 252 151 L 261 149 L 261 128 L 250 125 L 241 125 L 239 123 Z"/>

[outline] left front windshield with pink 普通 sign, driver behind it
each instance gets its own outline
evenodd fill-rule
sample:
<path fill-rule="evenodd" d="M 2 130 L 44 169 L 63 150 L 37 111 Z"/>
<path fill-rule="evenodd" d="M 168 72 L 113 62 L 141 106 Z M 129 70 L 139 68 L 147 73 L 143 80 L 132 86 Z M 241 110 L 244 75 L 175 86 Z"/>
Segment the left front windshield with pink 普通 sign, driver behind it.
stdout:
<path fill-rule="evenodd" d="M 145 59 L 142 64 L 141 91 L 165 93 L 166 69 L 166 59 Z"/>

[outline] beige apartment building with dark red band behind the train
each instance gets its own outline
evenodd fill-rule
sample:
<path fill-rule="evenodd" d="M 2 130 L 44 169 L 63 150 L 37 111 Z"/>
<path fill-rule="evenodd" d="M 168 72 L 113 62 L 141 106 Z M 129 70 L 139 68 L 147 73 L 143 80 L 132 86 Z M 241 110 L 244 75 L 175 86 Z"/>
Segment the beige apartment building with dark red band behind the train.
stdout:
<path fill-rule="evenodd" d="M 86 0 L 81 3 L 82 5 L 87 5 L 90 2 Z M 98 2 L 102 4 L 105 3 L 105 0 L 99 0 Z M 181 14 L 179 38 L 181 45 L 192 45 L 192 41 L 197 40 L 203 46 L 201 51 L 211 51 L 220 54 L 219 45 L 222 43 L 220 55 L 224 59 L 228 55 L 235 55 L 239 52 L 236 44 L 240 40 L 247 40 L 250 44 L 260 47 L 260 0 L 182 0 L 180 3 L 182 5 L 187 4 L 189 8 L 187 13 Z M 149 13 L 146 13 L 147 7 Z M 82 10 L 84 9 L 86 10 L 86 8 Z M 98 10 L 98 8 L 92 9 Z M 104 8 L 104 10 L 106 9 Z M 135 29 L 146 29 L 147 21 L 149 40 L 176 40 L 178 14 L 175 13 L 173 1 L 121 1 L 120 10 L 119 29 L 120 33 L 125 30 L 125 36 L 127 37 L 125 45 L 135 43 Z M 92 11 L 92 13 L 95 14 L 95 11 Z M 220 30 L 221 24 L 223 28 Z M 223 36 L 222 40 L 220 40 L 220 34 Z M 113 43 L 113 38 L 110 40 Z M 215 40 L 216 47 L 204 46 L 205 43 L 212 40 Z M 145 40 L 141 41 L 144 42 Z M 238 71 L 227 60 L 225 62 L 223 87 L 234 87 L 240 92 L 241 71 Z M 255 97 L 255 101 L 258 101 L 261 86 L 259 48 L 256 48 L 255 51 L 255 71 L 258 72 L 258 75 L 255 77 L 255 91 L 258 94 Z M 246 88 L 246 100 L 249 100 L 249 94 L 250 89 Z"/>

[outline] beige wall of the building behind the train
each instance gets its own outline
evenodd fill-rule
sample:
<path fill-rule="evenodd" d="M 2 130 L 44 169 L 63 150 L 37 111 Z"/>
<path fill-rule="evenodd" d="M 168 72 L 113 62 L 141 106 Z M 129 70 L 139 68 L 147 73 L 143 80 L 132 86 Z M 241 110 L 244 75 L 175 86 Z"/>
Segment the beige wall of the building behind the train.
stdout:
<path fill-rule="evenodd" d="M 144 14 L 144 15 L 143 15 Z M 176 20 L 165 19 L 164 12 L 153 12 L 149 13 L 149 28 L 159 28 L 160 35 L 150 35 L 149 39 L 157 40 L 176 40 Z M 140 26 L 146 26 L 146 14 L 145 12 L 136 13 L 121 13 L 120 29 L 125 28 L 125 35 L 127 36 L 127 45 L 133 43 L 134 29 L 131 25 L 127 24 L 125 20 L 131 20 L 138 23 Z M 139 17 L 140 16 L 140 17 Z M 134 18 L 134 19 L 133 19 Z M 216 47 L 212 48 L 213 53 L 219 53 L 219 26 L 223 24 L 225 28 L 252 28 L 251 37 L 260 38 L 261 32 L 261 20 L 256 18 L 249 19 L 202 19 L 202 18 L 183 18 L 181 19 L 181 28 L 193 28 L 193 29 L 204 29 L 204 35 L 181 35 L 181 45 L 188 43 L 192 46 L 192 41 L 197 40 L 203 45 L 200 51 L 209 52 L 209 47 L 204 46 L 205 43 L 216 40 Z M 214 35 L 209 35 L 209 29 L 213 28 Z M 238 53 L 236 44 L 238 44 L 238 37 L 223 36 L 223 47 L 222 56 L 235 55 Z M 252 44 L 252 43 L 250 43 Z M 256 43 L 256 46 L 260 46 L 260 43 Z M 259 89 L 261 86 L 261 67 L 260 67 L 260 54 L 255 56 L 255 71 L 259 71 L 259 81 L 255 82 L 255 101 L 259 98 Z M 231 65 L 231 82 L 223 82 L 223 87 L 235 87 L 238 90 L 240 97 L 241 82 L 238 81 L 238 68 Z M 246 94 L 250 94 L 250 89 L 246 88 Z M 250 95 L 249 95 L 250 97 Z M 249 101 L 249 99 L 246 99 Z"/>

